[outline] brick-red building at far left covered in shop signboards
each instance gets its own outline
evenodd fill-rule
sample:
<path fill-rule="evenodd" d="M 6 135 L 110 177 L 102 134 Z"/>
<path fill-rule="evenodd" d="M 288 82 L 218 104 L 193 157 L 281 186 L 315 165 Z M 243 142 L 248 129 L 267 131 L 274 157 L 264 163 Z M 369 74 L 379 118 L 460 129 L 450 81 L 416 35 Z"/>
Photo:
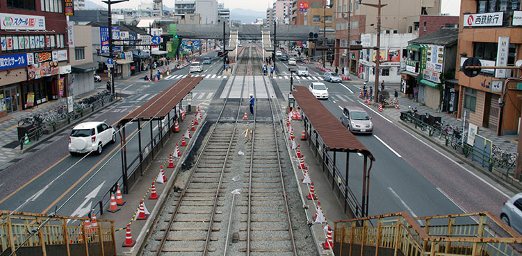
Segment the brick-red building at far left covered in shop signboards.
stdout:
<path fill-rule="evenodd" d="M 10 0 L 0 5 L 0 115 L 69 96 L 63 1 Z"/>

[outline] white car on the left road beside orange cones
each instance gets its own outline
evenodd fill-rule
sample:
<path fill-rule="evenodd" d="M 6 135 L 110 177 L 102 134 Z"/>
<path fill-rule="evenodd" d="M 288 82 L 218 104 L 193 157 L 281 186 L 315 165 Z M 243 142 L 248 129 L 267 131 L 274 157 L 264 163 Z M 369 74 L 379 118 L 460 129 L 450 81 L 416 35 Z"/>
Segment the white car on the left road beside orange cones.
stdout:
<path fill-rule="evenodd" d="M 88 153 L 96 151 L 101 154 L 103 148 L 108 143 L 116 142 L 116 130 L 104 122 L 80 123 L 72 128 L 69 136 L 69 152 Z"/>

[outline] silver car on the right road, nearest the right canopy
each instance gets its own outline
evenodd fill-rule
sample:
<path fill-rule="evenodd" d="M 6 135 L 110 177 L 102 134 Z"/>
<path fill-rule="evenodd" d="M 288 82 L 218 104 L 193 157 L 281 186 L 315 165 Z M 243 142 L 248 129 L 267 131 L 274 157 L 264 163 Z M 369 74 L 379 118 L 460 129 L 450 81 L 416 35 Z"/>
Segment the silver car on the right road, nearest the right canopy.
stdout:
<path fill-rule="evenodd" d="M 341 123 L 352 133 L 373 133 L 373 123 L 368 113 L 359 107 L 344 107 Z"/>

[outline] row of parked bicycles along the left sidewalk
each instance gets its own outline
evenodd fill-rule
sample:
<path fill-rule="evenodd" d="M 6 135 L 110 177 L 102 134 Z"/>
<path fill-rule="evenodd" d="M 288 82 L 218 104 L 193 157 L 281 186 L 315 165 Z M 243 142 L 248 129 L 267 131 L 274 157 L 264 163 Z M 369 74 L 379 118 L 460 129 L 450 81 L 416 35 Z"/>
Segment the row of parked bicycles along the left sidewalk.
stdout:
<path fill-rule="evenodd" d="M 79 119 L 83 116 L 85 109 L 95 110 L 112 100 L 113 95 L 111 92 L 104 90 L 85 99 L 75 101 L 72 112 L 67 111 L 67 105 L 59 105 L 53 110 L 38 112 L 29 117 L 22 117 L 22 119 L 18 120 L 18 126 L 31 125 L 33 127 L 33 136 L 42 137 L 46 127 L 55 126 L 60 121 Z"/>

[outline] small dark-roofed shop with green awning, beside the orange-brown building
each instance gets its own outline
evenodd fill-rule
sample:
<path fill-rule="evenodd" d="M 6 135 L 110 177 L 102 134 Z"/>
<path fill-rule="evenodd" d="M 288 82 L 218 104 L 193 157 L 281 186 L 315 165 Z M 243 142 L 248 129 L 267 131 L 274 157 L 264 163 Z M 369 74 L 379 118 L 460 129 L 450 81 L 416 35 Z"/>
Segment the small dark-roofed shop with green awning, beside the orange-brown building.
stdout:
<path fill-rule="evenodd" d="M 400 92 L 434 110 L 455 112 L 455 65 L 458 28 L 438 31 L 409 41 L 401 62 Z"/>

